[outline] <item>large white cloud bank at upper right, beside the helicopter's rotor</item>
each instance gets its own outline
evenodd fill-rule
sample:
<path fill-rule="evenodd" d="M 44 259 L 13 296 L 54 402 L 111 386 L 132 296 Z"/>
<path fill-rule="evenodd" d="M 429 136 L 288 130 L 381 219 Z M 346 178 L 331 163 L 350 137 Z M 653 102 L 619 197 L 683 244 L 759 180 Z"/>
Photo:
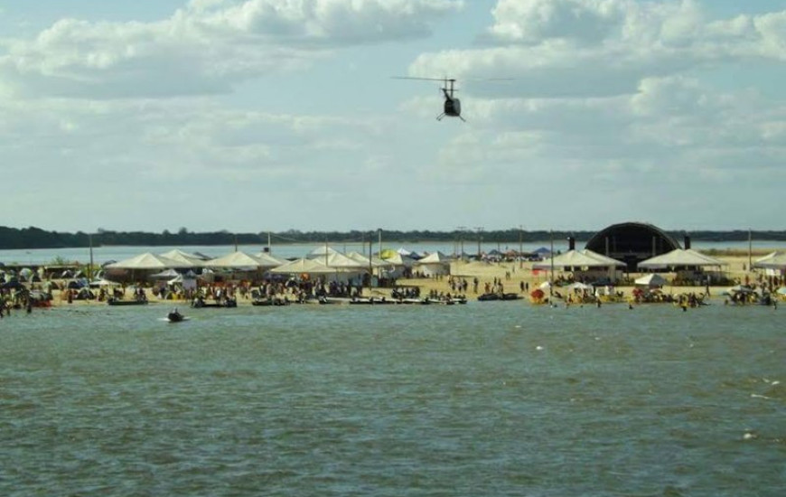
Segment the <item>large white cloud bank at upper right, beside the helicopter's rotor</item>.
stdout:
<path fill-rule="evenodd" d="M 786 12 L 712 21 L 692 0 L 500 0 L 492 12 L 484 41 L 495 46 L 424 53 L 410 75 L 517 79 L 482 87 L 486 97 L 606 97 L 645 78 L 786 60 Z"/>

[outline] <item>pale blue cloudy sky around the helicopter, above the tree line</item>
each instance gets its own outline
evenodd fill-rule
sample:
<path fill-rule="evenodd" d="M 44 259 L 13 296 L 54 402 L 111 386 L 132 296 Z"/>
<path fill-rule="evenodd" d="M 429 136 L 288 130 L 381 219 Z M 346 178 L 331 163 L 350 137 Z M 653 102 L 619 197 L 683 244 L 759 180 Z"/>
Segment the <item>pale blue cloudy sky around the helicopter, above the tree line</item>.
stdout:
<path fill-rule="evenodd" d="M 784 230 L 784 83 L 786 0 L 0 0 L 0 223 Z"/>

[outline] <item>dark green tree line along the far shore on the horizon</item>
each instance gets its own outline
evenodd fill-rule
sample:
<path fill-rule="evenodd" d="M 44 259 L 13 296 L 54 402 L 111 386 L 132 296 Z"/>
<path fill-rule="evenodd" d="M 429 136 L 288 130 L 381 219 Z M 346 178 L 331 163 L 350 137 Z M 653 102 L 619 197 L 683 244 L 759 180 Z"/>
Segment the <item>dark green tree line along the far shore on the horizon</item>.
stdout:
<path fill-rule="evenodd" d="M 672 231 L 669 235 L 681 239 L 685 231 Z M 548 239 L 564 240 L 574 237 L 585 241 L 595 234 L 587 230 L 381 230 L 384 242 L 416 243 L 416 242 L 454 242 L 459 240 L 482 240 L 489 243 L 515 244 L 519 241 L 535 242 Z M 747 230 L 714 231 L 699 230 L 688 233 L 697 241 L 745 241 L 749 237 Z M 750 232 L 756 240 L 786 240 L 786 230 L 758 230 Z M 268 237 L 276 244 L 280 243 L 331 243 L 377 241 L 379 230 L 351 231 L 300 231 L 286 230 L 280 232 L 231 233 L 227 230 L 192 232 L 181 228 L 176 232 L 164 230 L 161 233 L 147 231 L 114 231 L 98 229 L 95 233 L 66 233 L 47 231 L 35 227 L 8 228 L 0 226 L 0 248 L 84 248 L 92 244 L 100 246 L 158 247 L 158 246 L 213 246 L 213 245 L 265 245 Z"/>

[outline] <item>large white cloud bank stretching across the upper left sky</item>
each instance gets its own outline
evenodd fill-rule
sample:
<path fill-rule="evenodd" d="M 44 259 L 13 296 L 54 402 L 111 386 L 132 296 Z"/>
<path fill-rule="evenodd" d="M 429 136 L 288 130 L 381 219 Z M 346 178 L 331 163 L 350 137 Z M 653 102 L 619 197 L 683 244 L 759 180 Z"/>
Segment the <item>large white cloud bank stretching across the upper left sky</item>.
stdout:
<path fill-rule="evenodd" d="M 155 23 L 63 19 L 0 51 L 0 96 L 130 98 L 228 92 L 347 45 L 422 37 L 451 0 L 192 2 Z"/>

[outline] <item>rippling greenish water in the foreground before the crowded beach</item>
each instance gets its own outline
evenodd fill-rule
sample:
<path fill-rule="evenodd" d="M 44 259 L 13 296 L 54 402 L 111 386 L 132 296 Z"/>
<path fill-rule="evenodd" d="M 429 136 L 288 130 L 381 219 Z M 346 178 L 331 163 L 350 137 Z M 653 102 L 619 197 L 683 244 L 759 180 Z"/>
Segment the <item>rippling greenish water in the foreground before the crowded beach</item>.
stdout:
<path fill-rule="evenodd" d="M 786 310 L 165 312 L 0 321 L 0 494 L 786 494 Z"/>

